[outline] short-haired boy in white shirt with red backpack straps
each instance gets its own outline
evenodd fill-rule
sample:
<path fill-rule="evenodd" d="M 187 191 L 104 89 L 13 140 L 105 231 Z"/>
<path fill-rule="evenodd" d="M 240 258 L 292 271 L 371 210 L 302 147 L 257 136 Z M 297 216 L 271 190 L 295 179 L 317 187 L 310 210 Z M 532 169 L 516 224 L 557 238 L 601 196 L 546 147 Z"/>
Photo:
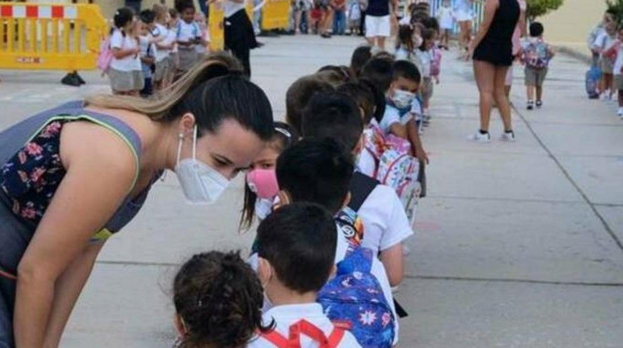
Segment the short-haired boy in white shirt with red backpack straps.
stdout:
<path fill-rule="evenodd" d="M 257 274 L 275 304 L 264 313 L 270 331 L 260 332 L 249 348 L 356 348 L 351 327 L 331 322 L 320 289 L 335 274 L 335 222 L 320 205 L 288 204 L 270 214 L 257 229 Z"/>

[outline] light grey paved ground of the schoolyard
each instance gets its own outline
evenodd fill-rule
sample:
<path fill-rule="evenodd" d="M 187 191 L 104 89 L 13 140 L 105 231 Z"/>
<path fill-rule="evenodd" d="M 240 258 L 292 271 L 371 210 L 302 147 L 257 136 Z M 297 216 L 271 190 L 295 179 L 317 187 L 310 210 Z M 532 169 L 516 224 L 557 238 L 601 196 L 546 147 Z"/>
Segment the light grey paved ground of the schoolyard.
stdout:
<path fill-rule="evenodd" d="M 346 63 L 356 39 L 265 39 L 254 80 L 282 118 L 293 80 Z M 477 91 L 450 54 L 424 141 L 429 197 L 397 295 L 411 314 L 401 347 L 623 347 L 623 121 L 584 98 L 586 67 L 557 57 L 542 110 L 515 111 L 514 144 L 472 144 Z M 49 72 L 0 71 L 0 126 L 107 82 L 58 85 Z M 523 106 L 521 73 L 513 101 Z M 501 131 L 494 117 L 493 135 Z M 63 347 L 169 347 L 176 264 L 194 252 L 249 246 L 237 232 L 242 184 L 218 205 L 184 205 L 174 176 L 108 243 L 72 316 Z"/>

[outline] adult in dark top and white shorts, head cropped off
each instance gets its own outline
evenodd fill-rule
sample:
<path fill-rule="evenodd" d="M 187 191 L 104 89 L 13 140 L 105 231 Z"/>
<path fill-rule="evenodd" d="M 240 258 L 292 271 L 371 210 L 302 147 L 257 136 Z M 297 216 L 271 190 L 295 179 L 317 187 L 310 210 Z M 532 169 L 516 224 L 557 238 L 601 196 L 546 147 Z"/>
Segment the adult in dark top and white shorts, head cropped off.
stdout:
<path fill-rule="evenodd" d="M 376 45 L 383 50 L 385 49 L 385 40 L 391 34 L 391 16 L 396 17 L 397 7 L 397 0 L 368 1 L 365 22 L 366 39 L 368 39 L 370 45 Z"/>

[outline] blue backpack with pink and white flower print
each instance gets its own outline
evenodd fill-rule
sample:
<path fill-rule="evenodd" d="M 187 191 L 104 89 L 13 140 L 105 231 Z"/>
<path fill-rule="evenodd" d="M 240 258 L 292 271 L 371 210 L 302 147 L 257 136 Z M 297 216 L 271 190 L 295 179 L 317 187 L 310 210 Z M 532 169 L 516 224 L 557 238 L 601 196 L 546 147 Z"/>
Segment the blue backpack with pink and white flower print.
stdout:
<path fill-rule="evenodd" d="M 370 273 L 373 252 L 350 247 L 338 271 L 318 294 L 331 321 L 350 328 L 363 348 L 391 348 L 396 318 L 379 281 Z"/>

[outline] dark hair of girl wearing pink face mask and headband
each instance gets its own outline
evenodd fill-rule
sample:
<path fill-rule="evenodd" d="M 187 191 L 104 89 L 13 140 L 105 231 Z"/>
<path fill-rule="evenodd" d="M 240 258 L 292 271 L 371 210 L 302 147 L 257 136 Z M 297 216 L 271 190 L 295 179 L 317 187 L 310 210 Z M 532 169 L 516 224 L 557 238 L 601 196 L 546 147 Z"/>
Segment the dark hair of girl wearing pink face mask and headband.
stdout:
<path fill-rule="evenodd" d="M 298 141 L 298 132 L 292 126 L 283 122 L 273 122 L 275 130 L 272 138 L 268 141 L 267 146 L 275 149 L 278 153 L 292 146 Z M 249 189 L 248 185 L 244 186 L 244 205 L 242 207 L 242 217 L 240 217 L 240 230 L 249 230 L 255 218 L 255 201 L 257 194 Z"/>

